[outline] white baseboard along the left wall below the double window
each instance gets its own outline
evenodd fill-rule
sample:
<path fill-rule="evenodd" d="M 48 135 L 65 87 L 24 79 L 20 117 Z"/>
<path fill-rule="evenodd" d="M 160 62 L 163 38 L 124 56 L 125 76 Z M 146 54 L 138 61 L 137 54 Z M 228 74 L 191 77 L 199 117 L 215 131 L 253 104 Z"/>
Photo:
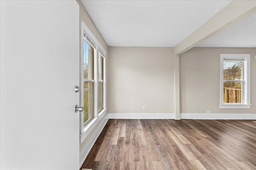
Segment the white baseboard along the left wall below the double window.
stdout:
<path fill-rule="evenodd" d="M 104 120 L 100 123 L 100 126 L 96 130 L 96 132 L 92 135 L 92 137 L 89 139 L 89 141 L 84 146 L 84 149 L 79 154 L 79 167 L 82 166 L 84 163 L 84 160 L 86 159 L 87 155 L 89 154 L 90 150 L 92 149 L 94 143 L 96 142 L 97 138 L 99 137 L 101 131 L 105 127 L 106 123 L 108 121 L 108 115 L 104 118 Z"/>

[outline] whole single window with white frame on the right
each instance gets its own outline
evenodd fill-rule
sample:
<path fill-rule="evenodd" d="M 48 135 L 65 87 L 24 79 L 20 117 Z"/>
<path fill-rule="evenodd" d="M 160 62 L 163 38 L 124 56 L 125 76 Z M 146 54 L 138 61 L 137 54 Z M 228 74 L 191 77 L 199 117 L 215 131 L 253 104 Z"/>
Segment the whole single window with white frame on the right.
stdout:
<path fill-rule="evenodd" d="M 220 108 L 250 108 L 250 54 L 220 54 Z"/>

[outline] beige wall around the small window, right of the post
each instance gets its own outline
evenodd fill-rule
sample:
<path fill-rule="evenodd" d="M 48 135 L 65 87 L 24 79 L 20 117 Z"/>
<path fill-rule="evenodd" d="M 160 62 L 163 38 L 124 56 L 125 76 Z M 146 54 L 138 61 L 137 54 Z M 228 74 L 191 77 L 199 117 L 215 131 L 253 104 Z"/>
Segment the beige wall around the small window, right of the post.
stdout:
<path fill-rule="evenodd" d="M 251 108 L 220 109 L 220 54 L 251 54 Z M 180 55 L 180 113 L 256 113 L 256 48 L 192 48 Z"/>

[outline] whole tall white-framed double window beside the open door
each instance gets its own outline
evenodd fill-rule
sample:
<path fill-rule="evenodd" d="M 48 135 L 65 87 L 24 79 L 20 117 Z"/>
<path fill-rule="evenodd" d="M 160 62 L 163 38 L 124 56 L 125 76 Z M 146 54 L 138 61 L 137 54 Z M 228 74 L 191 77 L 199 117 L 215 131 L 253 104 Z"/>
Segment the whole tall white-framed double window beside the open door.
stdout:
<path fill-rule="evenodd" d="M 90 29 L 80 20 L 80 143 L 106 114 L 105 54 L 106 51 Z"/>

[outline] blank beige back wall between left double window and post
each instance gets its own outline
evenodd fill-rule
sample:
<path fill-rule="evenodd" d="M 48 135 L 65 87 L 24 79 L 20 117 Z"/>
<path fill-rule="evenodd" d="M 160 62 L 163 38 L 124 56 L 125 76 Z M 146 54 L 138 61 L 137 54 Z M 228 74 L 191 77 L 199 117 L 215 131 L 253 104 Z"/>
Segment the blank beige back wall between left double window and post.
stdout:
<path fill-rule="evenodd" d="M 108 57 L 109 113 L 174 113 L 172 47 L 109 47 Z"/>

